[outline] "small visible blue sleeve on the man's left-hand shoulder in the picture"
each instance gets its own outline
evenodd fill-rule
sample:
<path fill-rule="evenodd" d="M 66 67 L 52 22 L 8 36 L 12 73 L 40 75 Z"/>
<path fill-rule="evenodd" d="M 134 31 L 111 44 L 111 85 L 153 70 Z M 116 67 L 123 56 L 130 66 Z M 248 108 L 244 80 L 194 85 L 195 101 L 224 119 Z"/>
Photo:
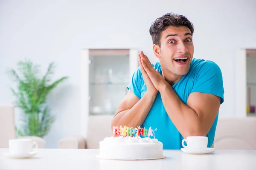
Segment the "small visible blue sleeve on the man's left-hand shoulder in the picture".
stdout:
<path fill-rule="evenodd" d="M 127 89 L 131 90 L 137 97 L 141 99 L 141 80 L 142 73 L 140 67 L 134 72 L 131 82 L 128 84 Z"/>

